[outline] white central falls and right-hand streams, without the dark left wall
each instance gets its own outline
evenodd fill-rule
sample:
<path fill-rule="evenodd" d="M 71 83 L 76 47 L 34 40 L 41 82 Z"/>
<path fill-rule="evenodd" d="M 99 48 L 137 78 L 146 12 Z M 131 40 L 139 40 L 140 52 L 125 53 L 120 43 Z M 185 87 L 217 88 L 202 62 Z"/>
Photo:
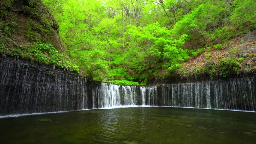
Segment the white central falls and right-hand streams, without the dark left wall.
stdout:
<path fill-rule="evenodd" d="M 255 78 L 137 87 L 99 83 L 93 91 L 93 99 L 97 99 L 97 101 L 93 101 L 94 108 L 155 105 L 256 110 Z"/>

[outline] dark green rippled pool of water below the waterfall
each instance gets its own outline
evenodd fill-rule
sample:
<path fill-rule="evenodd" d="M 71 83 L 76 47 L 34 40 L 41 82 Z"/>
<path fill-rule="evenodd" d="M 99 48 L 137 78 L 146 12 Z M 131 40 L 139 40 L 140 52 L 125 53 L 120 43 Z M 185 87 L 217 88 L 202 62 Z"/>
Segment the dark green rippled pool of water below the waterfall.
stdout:
<path fill-rule="evenodd" d="M 173 107 L 0 119 L 1 144 L 255 144 L 256 113 Z"/>

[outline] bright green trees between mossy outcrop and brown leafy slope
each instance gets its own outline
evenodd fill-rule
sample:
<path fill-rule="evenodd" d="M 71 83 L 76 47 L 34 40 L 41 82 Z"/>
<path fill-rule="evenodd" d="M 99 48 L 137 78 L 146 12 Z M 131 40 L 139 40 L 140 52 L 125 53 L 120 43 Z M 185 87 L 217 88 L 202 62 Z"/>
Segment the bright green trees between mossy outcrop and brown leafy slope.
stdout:
<path fill-rule="evenodd" d="M 113 0 L 43 2 L 59 22 L 60 37 L 68 47 L 70 58 L 83 69 L 85 76 L 94 80 L 126 78 L 144 83 L 145 77 L 152 73 L 156 76 L 163 68 L 168 68 L 167 75 L 174 76 L 178 69 L 183 70 L 181 63 L 188 61 L 189 56 L 196 58 L 203 52 L 203 49 L 197 52 L 190 49 L 186 53 L 184 47 L 196 49 L 199 46 L 191 42 L 185 44 L 185 41 L 202 43 L 204 40 L 206 45 L 239 36 L 245 28 L 255 29 L 252 0 L 234 0 L 234 3 L 230 0 L 186 3 L 165 0 L 163 7 L 149 1 L 134 1 L 134 4 Z M 139 5 L 141 7 L 136 7 Z M 166 9 L 169 10 L 165 13 Z M 40 15 L 34 12 L 31 17 L 39 18 Z M 28 21 L 26 34 L 29 40 L 39 40 L 36 35 L 42 33 L 40 25 L 43 24 Z M 8 31 L 6 28 L 6 33 Z M 213 47 L 223 49 L 222 44 Z M 45 50 L 38 50 L 39 61 L 45 61 L 40 56 Z M 51 64 L 58 64 L 56 56 L 46 53 L 51 56 Z M 210 55 L 205 53 L 208 60 Z M 220 74 L 220 64 L 212 66 L 209 74 L 212 77 Z"/>

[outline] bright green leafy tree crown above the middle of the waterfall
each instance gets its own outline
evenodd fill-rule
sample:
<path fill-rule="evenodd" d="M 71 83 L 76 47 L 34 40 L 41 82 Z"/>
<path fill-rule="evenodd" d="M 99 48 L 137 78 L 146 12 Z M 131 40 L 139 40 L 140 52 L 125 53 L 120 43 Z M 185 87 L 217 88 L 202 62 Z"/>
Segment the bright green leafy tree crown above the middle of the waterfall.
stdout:
<path fill-rule="evenodd" d="M 158 23 L 146 27 L 129 25 L 126 34 L 131 39 L 129 42 L 133 51 L 131 56 L 136 57 L 133 60 L 146 69 L 152 67 L 151 64 L 156 58 L 162 59 L 164 45 L 171 43 L 170 31 L 160 27 Z M 142 56 L 142 61 L 139 55 Z"/>

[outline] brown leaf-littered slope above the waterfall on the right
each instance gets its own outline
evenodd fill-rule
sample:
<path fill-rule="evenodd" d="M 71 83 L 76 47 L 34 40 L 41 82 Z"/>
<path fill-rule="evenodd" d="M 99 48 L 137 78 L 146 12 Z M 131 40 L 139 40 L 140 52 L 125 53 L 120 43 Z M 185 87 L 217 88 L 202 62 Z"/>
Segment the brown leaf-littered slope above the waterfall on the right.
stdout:
<path fill-rule="evenodd" d="M 201 41 L 201 42 L 200 42 Z M 190 41 L 185 44 L 186 49 L 204 48 L 202 45 L 203 40 Z M 216 43 L 216 42 L 215 42 Z M 181 65 L 186 72 L 180 71 L 180 78 L 189 77 L 188 73 L 200 75 L 201 71 L 205 66 L 206 61 L 210 61 L 213 64 L 220 64 L 223 59 L 234 58 L 241 66 L 241 71 L 237 74 L 248 74 L 255 73 L 256 69 L 256 31 L 249 32 L 243 36 L 235 37 L 228 40 L 222 45 L 222 49 L 215 49 L 213 43 L 208 40 L 208 45 L 212 45 L 211 49 L 204 48 L 204 51 L 195 58 L 193 55 L 190 56 L 187 62 L 183 62 Z M 211 53 L 210 57 L 207 58 L 205 53 Z M 244 58 L 243 60 L 239 58 Z M 159 71 L 159 75 L 166 73 L 168 69 Z M 190 75 L 191 76 L 191 75 Z"/>

